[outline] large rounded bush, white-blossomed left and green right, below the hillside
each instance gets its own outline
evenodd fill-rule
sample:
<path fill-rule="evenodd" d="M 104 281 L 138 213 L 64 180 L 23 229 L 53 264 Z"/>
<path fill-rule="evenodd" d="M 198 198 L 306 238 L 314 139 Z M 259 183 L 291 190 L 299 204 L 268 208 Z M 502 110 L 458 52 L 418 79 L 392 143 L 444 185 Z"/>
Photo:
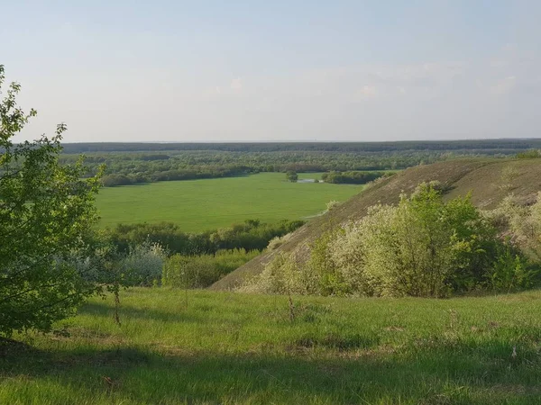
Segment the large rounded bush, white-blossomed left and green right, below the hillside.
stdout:
<path fill-rule="evenodd" d="M 432 184 L 420 184 L 397 207 L 373 207 L 332 250 L 360 293 L 441 297 L 485 282 L 500 245 L 469 197 L 445 204 Z"/>

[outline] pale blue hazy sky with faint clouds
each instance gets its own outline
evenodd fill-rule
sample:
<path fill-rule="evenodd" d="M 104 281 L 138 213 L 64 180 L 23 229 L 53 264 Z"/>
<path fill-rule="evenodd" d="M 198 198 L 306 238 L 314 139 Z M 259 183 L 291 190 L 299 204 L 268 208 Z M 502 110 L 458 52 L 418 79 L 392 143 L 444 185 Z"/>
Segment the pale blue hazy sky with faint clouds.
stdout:
<path fill-rule="evenodd" d="M 0 0 L 15 140 L 541 136 L 541 1 Z"/>

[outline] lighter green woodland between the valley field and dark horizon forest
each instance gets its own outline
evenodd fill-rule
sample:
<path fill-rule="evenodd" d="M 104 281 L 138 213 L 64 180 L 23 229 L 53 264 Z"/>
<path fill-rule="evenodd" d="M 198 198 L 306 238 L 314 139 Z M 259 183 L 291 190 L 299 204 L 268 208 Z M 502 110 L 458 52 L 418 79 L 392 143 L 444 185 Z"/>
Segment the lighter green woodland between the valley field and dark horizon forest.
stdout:
<path fill-rule="evenodd" d="M 404 169 L 463 156 L 454 152 L 225 152 L 193 151 L 163 153 L 162 157 L 144 153 L 92 153 L 86 157 L 88 175 L 105 165 L 106 186 L 151 183 L 168 180 L 250 175 L 261 172 L 297 173 L 328 171 L 379 171 Z M 64 154 L 61 162 L 74 163 L 78 155 Z"/>

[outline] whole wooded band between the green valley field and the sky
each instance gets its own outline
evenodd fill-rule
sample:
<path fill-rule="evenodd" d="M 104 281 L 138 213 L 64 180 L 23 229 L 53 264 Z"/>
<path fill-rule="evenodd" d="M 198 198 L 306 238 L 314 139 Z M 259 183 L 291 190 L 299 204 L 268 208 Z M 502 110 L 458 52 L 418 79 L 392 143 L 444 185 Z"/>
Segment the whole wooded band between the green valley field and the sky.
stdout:
<path fill-rule="evenodd" d="M 515 157 L 541 139 L 363 143 L 85 143 L 66 144 L 62 163 L 85 153 L 88 175 L 105 165 L 106 186 L 250 175 L 404 169 L 455 157 Z M 335 177 L 335 175 L 333 175 Z M 328 180 L 327 180 L 328 181 Z M 363 180 L 359 180 L 363 182 Z M 340 180 L 329 181 L 338 183 Z M 361 183 L 362 184 L 362 183 Z"/>

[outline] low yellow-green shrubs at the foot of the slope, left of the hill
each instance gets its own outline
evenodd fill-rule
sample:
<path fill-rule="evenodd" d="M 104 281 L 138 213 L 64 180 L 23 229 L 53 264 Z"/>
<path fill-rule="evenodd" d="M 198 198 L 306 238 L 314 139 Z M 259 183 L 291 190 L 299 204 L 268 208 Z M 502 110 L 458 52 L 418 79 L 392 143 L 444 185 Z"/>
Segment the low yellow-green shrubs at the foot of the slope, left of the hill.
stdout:
<path fill-rule="evenodd" d="M 220 250 L 215 255 L 174 255 L 165 262 L 162 284 L 171 287 L 206 288 L 259 253 L 257 250 L 233 249 Z"/>

